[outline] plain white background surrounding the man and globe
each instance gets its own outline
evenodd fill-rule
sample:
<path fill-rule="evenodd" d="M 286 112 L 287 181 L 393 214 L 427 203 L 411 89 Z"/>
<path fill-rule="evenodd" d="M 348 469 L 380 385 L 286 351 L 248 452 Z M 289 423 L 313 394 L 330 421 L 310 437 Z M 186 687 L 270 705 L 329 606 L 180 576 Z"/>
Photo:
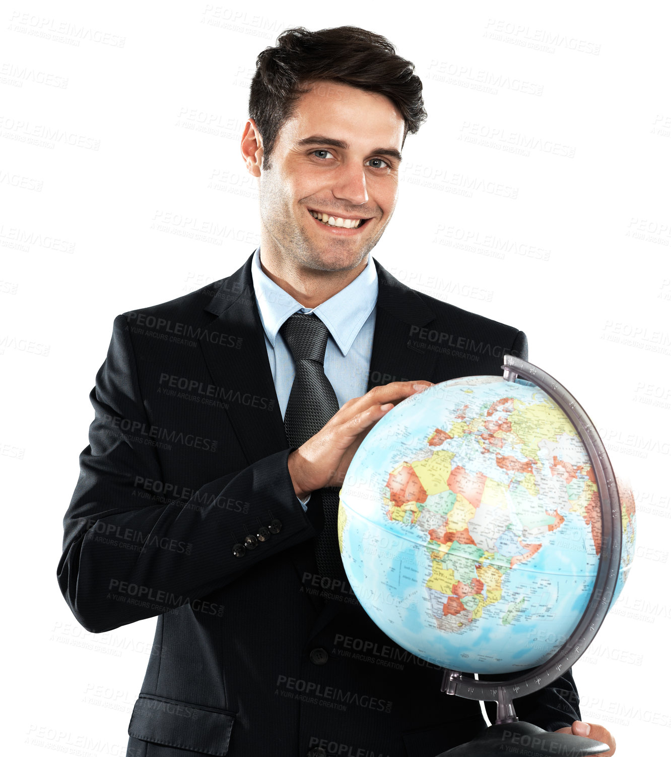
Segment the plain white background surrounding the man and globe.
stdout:
<path fill-rule="evenodd" d="M 114 316 L 227 276 L 259 244 L 256 179 L 239 147 L 256 55 L 287 27 L 341 24 L 384 34 L 415 63 L 429 114 L 405 142 L 399 204 L 374 257 L 433 297 L 527 332 L 530 361 L 576 395 L 632 482 L 632 572 L 574 675 L 583 718 L 610 728 L 618 754 L 659 753 L 671 724 L 662 8 L 5 5 L 8 753 L 125 752 L 154 618 L 90 634 L 56 581 L 89 391 Z"/>

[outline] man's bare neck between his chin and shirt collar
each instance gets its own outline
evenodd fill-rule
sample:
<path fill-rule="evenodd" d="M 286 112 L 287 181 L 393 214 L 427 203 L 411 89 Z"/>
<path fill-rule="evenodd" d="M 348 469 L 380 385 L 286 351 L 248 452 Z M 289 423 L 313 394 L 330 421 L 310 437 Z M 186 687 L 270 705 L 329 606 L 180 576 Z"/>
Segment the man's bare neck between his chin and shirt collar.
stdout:
<path fill-rule="evenodd" d="M 290 294 L 303 307 L 314 308 L 337 294 L 359 276 L 368 265 L 368 254 L 356 268 L 322 271 L 300 266 L 294 260 L 268 255 L 260 251 L 261 270 L 269 279 Z"/>

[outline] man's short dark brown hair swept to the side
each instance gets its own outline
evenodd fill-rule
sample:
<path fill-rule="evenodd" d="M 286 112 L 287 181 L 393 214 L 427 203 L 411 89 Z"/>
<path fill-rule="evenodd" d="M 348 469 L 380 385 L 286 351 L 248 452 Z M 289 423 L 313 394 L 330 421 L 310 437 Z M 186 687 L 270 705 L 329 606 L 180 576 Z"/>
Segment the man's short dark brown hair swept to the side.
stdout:
<path fill-rule="evenodd" d="M 359 26 L 316 32 L 296 26 L 284 30 L 277 42 L 259 53 L 250 86 L 249 117 L 261 132 L 264 169 L 271 168 L 275 140 L 294 113 L 295 101 L 309 91 L 301 87 L 307 80 L 331 80 L 386 95 L 405 120 L 403 142 L 427 119 L 415 64 L 396 55 L 384 36 Z"/>

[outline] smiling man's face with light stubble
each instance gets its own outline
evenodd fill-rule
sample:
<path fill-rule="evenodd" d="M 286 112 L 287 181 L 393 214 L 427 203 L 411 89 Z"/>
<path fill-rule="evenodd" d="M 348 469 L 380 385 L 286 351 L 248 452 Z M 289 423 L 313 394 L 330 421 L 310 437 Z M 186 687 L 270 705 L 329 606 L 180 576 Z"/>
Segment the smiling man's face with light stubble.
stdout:
<path fill-rule="evenodd" d="M 278 255 L 298 268 L 323 271 L 362 263 L 396 207 L 404 126 L 384 95 L 313 83 L 279 132 L 270 169 L 260 175 L 262 226 Z M 311 210 L 337 225 L 317 220 Z M 368 220 L 348 229 L 340 218 Z"/>

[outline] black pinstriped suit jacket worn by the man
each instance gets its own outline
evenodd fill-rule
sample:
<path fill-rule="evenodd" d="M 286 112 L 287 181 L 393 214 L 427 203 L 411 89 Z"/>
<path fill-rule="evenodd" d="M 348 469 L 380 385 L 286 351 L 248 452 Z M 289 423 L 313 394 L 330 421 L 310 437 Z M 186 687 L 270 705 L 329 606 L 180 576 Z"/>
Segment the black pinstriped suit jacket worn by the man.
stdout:
<path fill-rule="evenodd" d="M 116 316 L 58 583 L 94 633 L 157 617 L 129 755 L 433 757 L 485 726 L 480 706 L 441 693 L 439 668 L 379 631 L 346 583 L 316 575 L 321 495 L 303 512 L 294 494 L 251 261 Z M 374 263 L 368 390 L 502 375 L 506 352 L 527 358 L 523 332 Z M 272 520 L 278 534 L 234 555 Z M 570 670 L 515 703 L 548 730 L 579 718 Z"/>

